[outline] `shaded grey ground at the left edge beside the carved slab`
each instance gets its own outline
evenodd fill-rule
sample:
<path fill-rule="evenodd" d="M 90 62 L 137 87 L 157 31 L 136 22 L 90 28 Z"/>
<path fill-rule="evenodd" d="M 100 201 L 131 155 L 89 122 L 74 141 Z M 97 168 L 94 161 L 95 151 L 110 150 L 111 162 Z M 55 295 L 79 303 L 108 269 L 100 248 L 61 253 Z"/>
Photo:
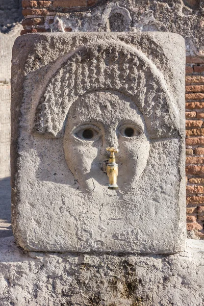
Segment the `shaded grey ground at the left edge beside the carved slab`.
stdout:
<path fill-rule="evenodd" d="M 11 229 L 10 177 L 0 180 L 0 238 L 13 236 Z"/>

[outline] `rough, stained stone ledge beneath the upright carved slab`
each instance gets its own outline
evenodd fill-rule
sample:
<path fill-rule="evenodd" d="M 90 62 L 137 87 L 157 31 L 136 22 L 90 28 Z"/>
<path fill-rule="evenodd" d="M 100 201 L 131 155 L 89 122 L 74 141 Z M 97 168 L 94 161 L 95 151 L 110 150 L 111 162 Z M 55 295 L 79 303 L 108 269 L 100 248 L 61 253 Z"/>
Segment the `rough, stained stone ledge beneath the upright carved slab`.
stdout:
<path fill-rule="evenodd" d="M 201 306 L 204 241 L 174 255 L 25 252 L 0 240 L 1 306 Z"/>

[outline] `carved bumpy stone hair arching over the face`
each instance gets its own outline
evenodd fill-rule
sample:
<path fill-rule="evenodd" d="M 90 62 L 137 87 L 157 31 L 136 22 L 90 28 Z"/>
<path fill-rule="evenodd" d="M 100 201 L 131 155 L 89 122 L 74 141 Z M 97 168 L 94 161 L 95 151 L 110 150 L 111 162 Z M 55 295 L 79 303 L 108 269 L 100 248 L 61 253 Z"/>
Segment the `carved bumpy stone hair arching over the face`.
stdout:
<path fill-rule="evenodd" d="M 149 138 L 179 135 L 163 75 L 146 56 L 122 42 L 89 43 L 57 69 L 41 95 L 33 133 L 63 136 L 67 112 L 79 96 L 114 90 L 129 96 L 144 116 Z"/>

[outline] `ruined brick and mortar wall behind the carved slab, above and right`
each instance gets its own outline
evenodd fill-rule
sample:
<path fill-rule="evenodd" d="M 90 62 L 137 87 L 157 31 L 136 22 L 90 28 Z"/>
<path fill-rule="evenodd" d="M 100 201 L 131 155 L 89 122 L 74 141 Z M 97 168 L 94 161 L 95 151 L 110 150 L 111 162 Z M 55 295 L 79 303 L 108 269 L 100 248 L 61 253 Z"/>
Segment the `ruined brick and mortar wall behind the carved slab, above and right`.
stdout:
<path fill-rule="evenodd" d="M 204 3 L 198 0 L 22 1 L 21 34 L 168 31 L 186 41 L 187 229 L 204 238 Z"/>

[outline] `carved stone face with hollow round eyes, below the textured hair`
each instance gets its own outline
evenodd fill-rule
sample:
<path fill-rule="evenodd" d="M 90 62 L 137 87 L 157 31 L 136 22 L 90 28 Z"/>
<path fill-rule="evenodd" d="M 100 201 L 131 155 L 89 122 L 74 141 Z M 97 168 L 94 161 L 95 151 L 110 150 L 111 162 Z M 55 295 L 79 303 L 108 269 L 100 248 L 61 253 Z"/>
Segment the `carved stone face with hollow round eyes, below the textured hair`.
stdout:
<path fill-rule="evenodd" d="M 143 116 L 131 99 L 114 91 L 88 93 L 72 104 L 63 145 L 67 165 L 86 191 L 108 185 L 108 146 L 119 149 L 120 190 L 131 190 L 150 147 Z"/>

